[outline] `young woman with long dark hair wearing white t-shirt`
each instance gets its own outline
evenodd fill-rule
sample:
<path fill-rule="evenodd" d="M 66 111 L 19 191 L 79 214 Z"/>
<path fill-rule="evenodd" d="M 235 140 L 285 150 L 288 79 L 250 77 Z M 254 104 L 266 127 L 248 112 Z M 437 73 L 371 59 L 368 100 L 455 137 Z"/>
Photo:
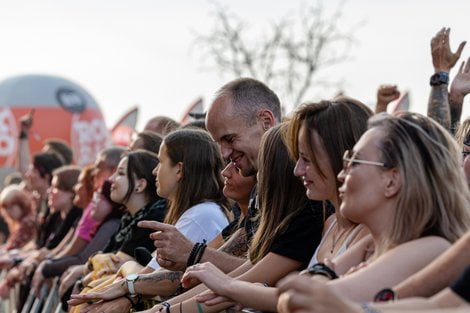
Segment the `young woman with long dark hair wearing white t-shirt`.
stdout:
<path fill-rule="evenodd" d="M 181 129 L 168 134 L 154 169 L 157 193 L 168 200 L 165 223 L 193 242 L 214 239 L 228 225 L 222 157 L 209 134 Z M 148 265 L 158 269 L 155 258 Z"/>

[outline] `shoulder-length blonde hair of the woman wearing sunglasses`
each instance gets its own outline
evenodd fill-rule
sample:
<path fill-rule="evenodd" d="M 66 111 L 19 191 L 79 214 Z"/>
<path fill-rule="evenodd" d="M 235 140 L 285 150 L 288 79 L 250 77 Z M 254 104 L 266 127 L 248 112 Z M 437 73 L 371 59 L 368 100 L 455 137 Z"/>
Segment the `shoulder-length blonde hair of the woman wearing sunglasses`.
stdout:
<path fill-rule="evenodd" d="M 430 235 L 456 241 L 470 228 L 470 192 L 455 140 L 417 113 L 379 114 L 369 120 L 373 127 L 384 130 L 379 150 L 386 168 L 398 168 L 402 186 L 383 249 Z"/>

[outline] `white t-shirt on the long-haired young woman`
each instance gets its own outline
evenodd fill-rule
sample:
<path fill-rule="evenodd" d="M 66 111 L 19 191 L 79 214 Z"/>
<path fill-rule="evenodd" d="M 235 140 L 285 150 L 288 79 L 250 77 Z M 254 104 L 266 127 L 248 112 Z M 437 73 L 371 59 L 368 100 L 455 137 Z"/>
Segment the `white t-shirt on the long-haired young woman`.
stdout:
<path fill-rule="evenodd" d="M 203 202 L 190 207 L 175 224 L 186 238 L 192 242 L 211 242 L 228 225 L 222 208 L 215 202 Z M 147 264 L 157 270 L 160 268 L 155 257 Z"/>

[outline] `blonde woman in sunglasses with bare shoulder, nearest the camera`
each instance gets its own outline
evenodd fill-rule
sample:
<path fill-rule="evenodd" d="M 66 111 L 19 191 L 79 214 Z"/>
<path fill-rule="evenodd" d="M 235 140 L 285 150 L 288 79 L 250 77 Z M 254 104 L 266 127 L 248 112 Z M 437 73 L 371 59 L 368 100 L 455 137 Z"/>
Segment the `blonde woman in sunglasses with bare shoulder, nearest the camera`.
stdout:
<path fill-rule="evenodd" d="M 377 116 L 369 122 L 369 128 L 354 152 L 345 157 L 341 211 L 369 225 L 376 245 L 374 258 L 367 267 L 328 282 L 328 286 L 304 277 L 286 278 L 279 284 L 282 294 L 278 310 L 414 312 L 427 308 L 435 309 L 429 312 L 467 312 L 468 287 L 463 286 L 468 286 L 468 270 L 451 286 L 452 290 L 445 289 L 429 300 L 415 298 L 362 306 L 350 301 L 372 300 L 382 288 L 394 286 L 424 267 L 449 242 L 461 238 L 445 253 L 451 257 L 468 242 L 464 234 L 469 229 L 470 193 L 460 168 L 458 146 L 449 133 L 435 121 L 413 113 Z M 379 202 L 383 204 L 373 205 Z M 462 251 L 459 254 L 465 258 Z M 433 265 L 443 263 L 440 259 Z M 462 265 L 458 267 L 463 272 Z M 440 283 L 444 272 L 452 271 L 429 274 Z M 415 294 L 422 293 L 415 290 Z M 383 295 L 379 292 L 376 298 Z"/>

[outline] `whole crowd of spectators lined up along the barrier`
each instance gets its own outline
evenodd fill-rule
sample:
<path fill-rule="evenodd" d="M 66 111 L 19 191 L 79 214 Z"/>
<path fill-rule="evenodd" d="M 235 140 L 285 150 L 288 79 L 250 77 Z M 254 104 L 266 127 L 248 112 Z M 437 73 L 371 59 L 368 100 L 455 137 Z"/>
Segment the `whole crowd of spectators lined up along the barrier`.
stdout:
<path fill-rule="evenodd" d="M 60 140 L 0 193 L 8 235 L 0 297 L 55 312 L 468 312 L 470 58 L 449 29 L 431 41 L 427 116 L 347 96 L 281 115 L 275 92 L 238 78 L 204 121 L 150 120 L 128 147 L 73 165 Z"/>

